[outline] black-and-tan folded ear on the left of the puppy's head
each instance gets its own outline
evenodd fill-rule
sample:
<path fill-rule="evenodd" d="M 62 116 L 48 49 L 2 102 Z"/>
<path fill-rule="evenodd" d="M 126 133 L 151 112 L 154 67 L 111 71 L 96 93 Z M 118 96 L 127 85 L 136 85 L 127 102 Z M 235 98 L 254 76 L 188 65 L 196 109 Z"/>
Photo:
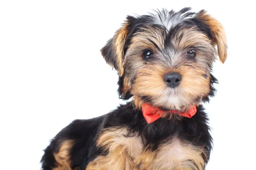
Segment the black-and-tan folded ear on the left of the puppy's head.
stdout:
<path fill-rule="evenodd" d="M 114 37 L 108 40 L 107 44 L 101 49 L 101 54 L 106 62 L 118 71 L 119 76 L 124 74 L 123 59 L 125 40 L 130 32 L 130 22 L 134 17 L 128 16 L 122 27 L 116 31 Z"/>

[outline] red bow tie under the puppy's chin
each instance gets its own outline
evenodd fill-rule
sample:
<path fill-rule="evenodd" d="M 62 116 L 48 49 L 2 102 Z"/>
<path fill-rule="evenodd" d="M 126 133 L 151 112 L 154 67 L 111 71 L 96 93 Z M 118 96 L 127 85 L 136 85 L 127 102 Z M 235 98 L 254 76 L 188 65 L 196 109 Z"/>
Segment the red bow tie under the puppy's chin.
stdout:
<path fill-rule="evenodd" d="M 163 111 L 160 108 L 153 107 L 152 105 L 148 103 L 144 103 L 142 105 L 142 113 L 144 118 L 148 123 L 152 123 L 155 120 L 159 119 L 161 116 L 163 116 L 163 113 L 170 112 L 170 113 L 177 113 L 177 110 L 170 110 L 170 111 Z M 184 111 L 178 113 L 180 116 L 191 118 L 196 113 L 196 107 L 193 105 L 193 107 L 189 111 Z"/>

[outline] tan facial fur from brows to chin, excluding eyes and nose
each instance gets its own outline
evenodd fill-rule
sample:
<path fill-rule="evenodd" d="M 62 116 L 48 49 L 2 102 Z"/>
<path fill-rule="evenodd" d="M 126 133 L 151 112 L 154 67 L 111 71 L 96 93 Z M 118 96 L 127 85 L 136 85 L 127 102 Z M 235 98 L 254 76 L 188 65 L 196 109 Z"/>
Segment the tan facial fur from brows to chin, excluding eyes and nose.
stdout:
<path fill-rule="evenodd" d="M 207 96 L 209 93 L 210 71 L 208 64 L 215 60 L 215 48 L 205 34 L 194 28 L 185 28 L 172 37 L 172 44 L 177 52 L 170 51 L 168 59 L 166 56 L 162 56 L 158 49 L 147 40 L 151 39 L 160 49 L 163 48 L 164 40 L 163 37 L 160 37 L 164 34 L 163 31 L 165 30 L 148 27 L 144 31 L 136 33 L 132 38 L 124 59 L 127 74 L 124 78 L 122 94 L 125 95 L 127 91 L 130 91 L 134 96 L 136 108 L 141 108 L 143 104 L 140 97 L 147 96 L 157 107 L 184 111 L 191 105 L 198 105 L 201 102 L 201 100 L 195 102 L 198 96 Z M 202 45 L 203 48 L 200 50 Z M 184 55 L 191 46 L 199 49 L 196 56 L 197 62 L 187 66 Z M 137 49 L 142 49 L 142 51 Z M 143 49 L 154 51 L 157 64 L 145 64 L 142 58 Z M 170 72 L 178 72 L 182 76 L 180 85 L 175 89 L 168 88 L 163 81 L 163 76 Z M 206 78 L 206 76 L 208 77 Z M 134 79 L 132 86 L 131 78 Z"/>

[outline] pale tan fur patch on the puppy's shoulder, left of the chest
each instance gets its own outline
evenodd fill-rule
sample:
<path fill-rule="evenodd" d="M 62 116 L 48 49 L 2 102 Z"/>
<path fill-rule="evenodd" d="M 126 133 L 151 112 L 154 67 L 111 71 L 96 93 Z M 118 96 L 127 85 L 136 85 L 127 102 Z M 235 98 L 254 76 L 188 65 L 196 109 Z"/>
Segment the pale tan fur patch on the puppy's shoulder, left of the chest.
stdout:
<path fill-rule="evenodd" d="M 125 129 L 106 129 L 99 136 L 97 145 L 108 150 L 107 156 L 98 156 L 91 161 L 86 170 L 135 170 L 133 160 L 142 149 L 137 137 L 125 138 Z"/>

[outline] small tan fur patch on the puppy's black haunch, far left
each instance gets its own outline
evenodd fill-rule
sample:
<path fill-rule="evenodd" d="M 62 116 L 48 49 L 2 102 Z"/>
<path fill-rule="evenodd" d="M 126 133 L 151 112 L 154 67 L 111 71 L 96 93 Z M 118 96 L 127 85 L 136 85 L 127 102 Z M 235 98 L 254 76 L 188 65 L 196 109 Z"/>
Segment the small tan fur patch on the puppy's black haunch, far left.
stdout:
<path fill-rule="evenodd" d="M 66 140 L 61 144 L 58 153 L 53 153 L 57 162 L 53 170 L 72 170 L 70 167 L 70 148 L 73 146 L 73 140 Z"/>

